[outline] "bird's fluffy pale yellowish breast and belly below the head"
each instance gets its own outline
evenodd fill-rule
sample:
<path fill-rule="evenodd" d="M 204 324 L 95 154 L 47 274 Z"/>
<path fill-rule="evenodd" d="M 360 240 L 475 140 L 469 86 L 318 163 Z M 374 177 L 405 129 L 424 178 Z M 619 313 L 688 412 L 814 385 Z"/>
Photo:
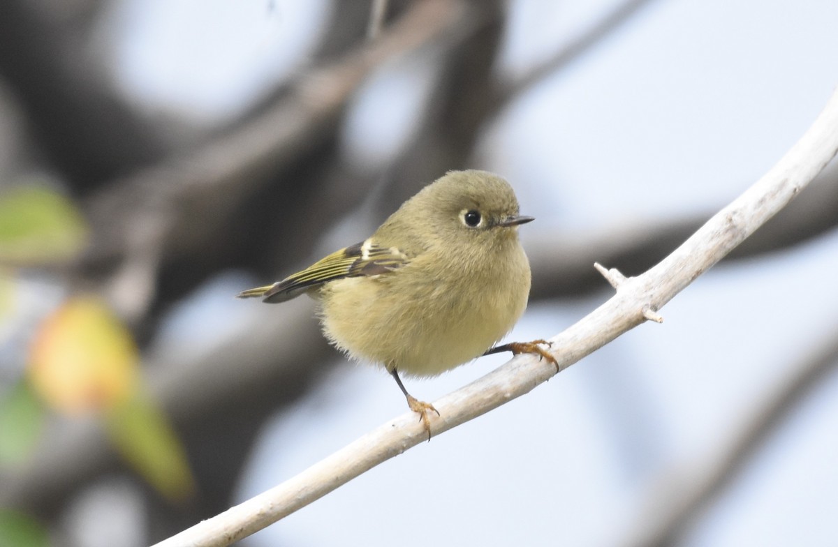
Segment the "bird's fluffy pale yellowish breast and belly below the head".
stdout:
<path fill-rule="evenodd" d="M 520 257 L 488 264 L 417 257 L 377 277 L 334 281 L 322 293 L 326 336 L 355 358 L 433 376 L 479 357 L 524 312 L 530 269 Z"/>

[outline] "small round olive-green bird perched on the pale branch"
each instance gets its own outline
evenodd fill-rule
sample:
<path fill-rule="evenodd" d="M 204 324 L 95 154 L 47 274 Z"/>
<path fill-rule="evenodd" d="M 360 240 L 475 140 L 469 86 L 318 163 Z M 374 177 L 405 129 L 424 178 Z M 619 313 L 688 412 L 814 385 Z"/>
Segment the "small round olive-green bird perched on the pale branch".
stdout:
<path fill-rule="evenodd" d="M 431 438 L 430 412 L 399 374 L 435 376 L 486 353 L 518 321 L 530 294 L 530 263 L 510 184 L 485 171 L 452 171 L 408 199 L 369 239 L 338 250 L 303 271 L 241 292 L 285 302 L 303 292 L 319 301 L 323 333 L 354 359 L 385 367 Z"/>

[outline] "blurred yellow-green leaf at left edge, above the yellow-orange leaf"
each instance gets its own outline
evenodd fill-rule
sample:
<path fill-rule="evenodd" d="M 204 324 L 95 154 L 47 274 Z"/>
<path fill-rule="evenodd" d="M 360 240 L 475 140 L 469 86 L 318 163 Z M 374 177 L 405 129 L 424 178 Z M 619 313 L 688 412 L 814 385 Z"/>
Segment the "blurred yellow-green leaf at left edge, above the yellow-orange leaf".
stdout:
<path fill-rule="evenodd" d="M 85 220 L 60 194 L 33 186 L 0 194 L 0 263 L 68 261 L 82 250 L 86 235 Z"/>

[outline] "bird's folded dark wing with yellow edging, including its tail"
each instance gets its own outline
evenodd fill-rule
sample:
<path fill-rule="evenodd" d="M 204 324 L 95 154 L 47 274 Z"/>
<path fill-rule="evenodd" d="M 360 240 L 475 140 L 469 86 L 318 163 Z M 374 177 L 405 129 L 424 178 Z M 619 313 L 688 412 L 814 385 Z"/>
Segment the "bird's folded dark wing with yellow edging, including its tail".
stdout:
<path fill-rule="evenodd" d="M 273 285 L 258 286 L 237 295 L 263 297 L 263 302 L 286 302 L 309 289 L 344 277 L 380 276 L 405 266 L 409 257 L 396 247 L 376 245 L 372 239 L 335 251 L 303 271 Z"/>

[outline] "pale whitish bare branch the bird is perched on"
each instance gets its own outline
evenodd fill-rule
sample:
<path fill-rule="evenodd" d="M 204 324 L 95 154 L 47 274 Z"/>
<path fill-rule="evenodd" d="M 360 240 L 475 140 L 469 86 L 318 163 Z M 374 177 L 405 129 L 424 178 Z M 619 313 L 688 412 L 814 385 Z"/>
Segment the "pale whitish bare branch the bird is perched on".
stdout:
<path fill-rule="evenodd" d="M 608 302 L 551 339 L 558 369 L 566 369 L 656 313 L 678 292 L 722 260 L 804 188 L 838 151 L 838 92 L 809 131 L 763 178 L 722 209 L 657 266 L 625 278 L 600 268 L 618 286 Z M 519 355 L 483 378 L 448 394 L 433 405 L 439 435 L 528 393 L 556 374 L 556 367 Z M 408 412 L 314 464 L 271 490 L 204 520 L 158 547 L 228 545 L 312 503 L 371 467 L 427 439 L 422 424 Z"/>

